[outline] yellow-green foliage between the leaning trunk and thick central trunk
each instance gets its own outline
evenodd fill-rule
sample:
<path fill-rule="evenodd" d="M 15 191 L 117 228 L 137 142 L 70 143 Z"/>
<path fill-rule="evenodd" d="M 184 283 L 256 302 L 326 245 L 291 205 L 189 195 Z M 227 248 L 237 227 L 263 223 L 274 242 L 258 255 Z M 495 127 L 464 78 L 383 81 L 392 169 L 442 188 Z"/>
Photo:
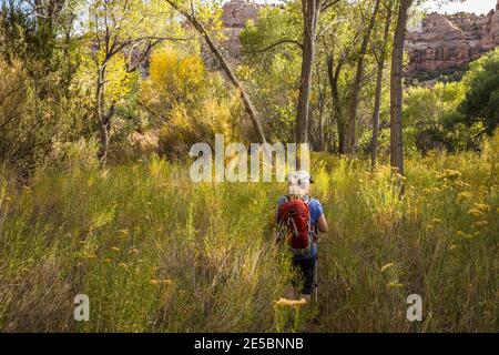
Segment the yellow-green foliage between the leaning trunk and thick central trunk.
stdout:
<path fill-rule="evenodd" d="M 240 34 L 238 68 L 269 140 L 295 141 L 297 78 L 301 73 L 301 11 L 267 7 Z"/>

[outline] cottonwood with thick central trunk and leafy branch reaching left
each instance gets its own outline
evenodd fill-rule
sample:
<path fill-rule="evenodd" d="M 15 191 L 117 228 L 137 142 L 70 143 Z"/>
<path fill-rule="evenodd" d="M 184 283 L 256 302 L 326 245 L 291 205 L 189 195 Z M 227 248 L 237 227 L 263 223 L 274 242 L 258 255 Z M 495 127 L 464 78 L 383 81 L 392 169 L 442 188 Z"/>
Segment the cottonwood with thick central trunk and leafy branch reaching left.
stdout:
<path fill-rule="evenodd" d="M 252 54 L 261 59 L 262 62 L 271 60 L 293 61 L 289 69 L 294 69 L 295 55 L 298 55 L 299 70 L 288 70 L 289 74 L 297 75 L 297 98 L 295 116 L 295 141 L 306 143 L 310 138 L 310 116 L 313 111 L 312 93 L 315 89 L 319 99 L 318 108 L 318 134 L 319 139 L 314 140 L 317 146 L 324 146 L 324 111 L 325 90 L 322 80 L 314 79 L 314 74 L 319 70 L 317 63 L 317 45 L 320 29 L 319 17 L 322 12 L 333 8 L 336 1 L 324 0 L 295 0 L 286 2 L 283 10 L 266 11 L 263 19 L 256 26 L 251 24 L 243 32 L 243 44 L 245 54 Z M 268 27 L 268 21 L 279 21 Z M 323 33 L 324 34 L 324 33 Z M 252 59 L 254 61 L 254 59 Z M 268 72 L 268 71 L 266 71 Z M 314 83 L 318 83 L 314 88 Z M 288 110 L 287 110 L 288 111 Z"/>

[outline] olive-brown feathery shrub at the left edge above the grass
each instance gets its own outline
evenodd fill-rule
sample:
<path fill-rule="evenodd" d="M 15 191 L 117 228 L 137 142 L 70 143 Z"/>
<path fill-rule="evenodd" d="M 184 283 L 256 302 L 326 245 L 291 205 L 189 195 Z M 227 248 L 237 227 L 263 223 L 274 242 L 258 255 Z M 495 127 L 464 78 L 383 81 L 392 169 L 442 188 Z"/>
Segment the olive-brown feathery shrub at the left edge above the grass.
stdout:
<path fill-rule="evenodd" d="M 78 95 L 67 99 L 53 92 L 40 98 L 40 90 L 50 91 L 58 79 L 49 75 L 39 82 L 19 60 L 9 63 L 0 59 L 0 71 L 4 73 L 0 82 L 0 162 L 26 179 L 50 162 L 54 144 L 79 131 L 84 110 L 78 108 Z"/>

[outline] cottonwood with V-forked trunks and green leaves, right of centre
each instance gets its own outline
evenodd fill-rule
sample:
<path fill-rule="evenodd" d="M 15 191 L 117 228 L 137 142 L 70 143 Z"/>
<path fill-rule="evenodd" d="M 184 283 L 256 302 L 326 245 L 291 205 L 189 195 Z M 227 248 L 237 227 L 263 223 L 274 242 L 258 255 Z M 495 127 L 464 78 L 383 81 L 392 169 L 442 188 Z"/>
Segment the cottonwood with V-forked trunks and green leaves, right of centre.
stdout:
<path fill-rule="evenodd" d="M 370 80 L 375 70 L 373 39 L 378 31 L 380 2 L 373 0 L 343 2 L 335 11 L 324 14 L 319 36 L 319 52 L 328 78 L 332 123 L 338 135 L 337 152 L 355 153 L 356 130 L 361 121 L 358 113 L 367 108 L 363 93 L 373 90 Z M 376 32 L 377 33 L 377 32 Z M 376 37 L 377 38 L 377 37 Z M 360 128 L 360 125 L 359 125 Z"/>

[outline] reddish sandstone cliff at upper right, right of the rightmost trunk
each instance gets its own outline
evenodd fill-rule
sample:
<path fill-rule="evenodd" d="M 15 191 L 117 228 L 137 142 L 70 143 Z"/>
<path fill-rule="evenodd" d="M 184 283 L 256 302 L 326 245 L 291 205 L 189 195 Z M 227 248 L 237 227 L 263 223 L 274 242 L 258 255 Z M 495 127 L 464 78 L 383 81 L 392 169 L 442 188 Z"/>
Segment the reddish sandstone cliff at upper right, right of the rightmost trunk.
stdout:
<path fill-rule="evenodd" d="M 425 17 L 419 29 L 409 31 L 407 75 L 431 79 L 459 71 L 470 61 L 499 45 L 499 0 L 487 16 L 475 13 Z"/>

